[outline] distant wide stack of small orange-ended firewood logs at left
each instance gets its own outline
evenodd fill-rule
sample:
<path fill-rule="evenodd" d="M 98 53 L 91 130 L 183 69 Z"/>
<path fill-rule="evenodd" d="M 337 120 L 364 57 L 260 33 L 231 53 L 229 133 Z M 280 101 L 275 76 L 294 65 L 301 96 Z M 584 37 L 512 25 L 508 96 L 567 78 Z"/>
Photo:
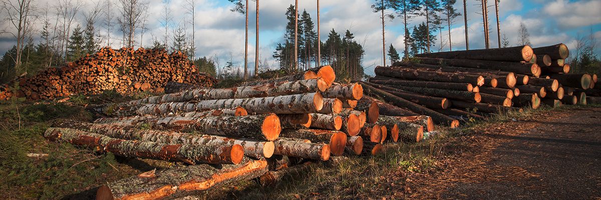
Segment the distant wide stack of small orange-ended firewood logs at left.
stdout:
<path fill-rule="evenodd" d="M 210 87 L 216 82 L 197 68 L 182 52 L 164 49 L 138 50 L 105 47 L 61 67 L 52 67 L 17 82 L 0 86 L 0 100 L 13 96 L 29 100 L 53 99 L 72 94 L 99 94 L 112 90 L 120 94 L 134 91 L 162 92 L 165 83 L 173 81 Z"/>

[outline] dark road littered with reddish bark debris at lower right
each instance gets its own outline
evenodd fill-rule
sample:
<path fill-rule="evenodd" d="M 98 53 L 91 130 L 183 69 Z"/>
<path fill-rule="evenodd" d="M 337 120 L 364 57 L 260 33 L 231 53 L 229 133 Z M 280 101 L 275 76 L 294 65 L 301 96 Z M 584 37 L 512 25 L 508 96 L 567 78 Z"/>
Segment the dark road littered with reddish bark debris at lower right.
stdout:
<path fill-rule="evenodd" d="M 480 127 L 469 140 L 445 171 L 413 177 L 409 197 L 601 199 L 601 108 Z"/>

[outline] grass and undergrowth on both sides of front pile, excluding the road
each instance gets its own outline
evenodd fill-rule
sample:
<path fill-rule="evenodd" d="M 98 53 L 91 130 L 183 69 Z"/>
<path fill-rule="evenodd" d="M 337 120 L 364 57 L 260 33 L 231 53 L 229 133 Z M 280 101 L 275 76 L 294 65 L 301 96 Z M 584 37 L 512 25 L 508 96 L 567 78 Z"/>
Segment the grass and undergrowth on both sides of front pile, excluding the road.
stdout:
<path fill-rule="evenodd" d="M 148 94 L 136 94 L 138 97 Z M 74 96 L 65 103 L 0 102 L 0 195 L 6 199 L 59 199 L 94 195 L 101 184 L 151 169 L 178 163 L 124 159 L 94 154 L 86 148 L 49 142 L 43 132 L 56 120 L 91 120 L 82 107 L 91 103 L 130 100 L 115 92 L 91 97 Z M 601 107 L 593 105 L 594 107 Z M 564 106 L 556 109 L 587 108 Z M 227 184 L 202 192 L 201 199 L 356 199 L 383 196 L 407 198 L 409 174 L 430 174 L 445 168 L 444 160 L 465 147 L 457 139 L 479 127 L 534 118 L 552 108 L 506 112 L 485 121 L 468 121 L 460 129 L 439 129 L 441 134 L 416 144 L 387 144 L 379 156 L 332 159 L 311 165 L 307 173 L 294 174 L 276 186 L 262 187 L 255 180 Z M 29 157 L 29 153 L 45 153 Z"/>

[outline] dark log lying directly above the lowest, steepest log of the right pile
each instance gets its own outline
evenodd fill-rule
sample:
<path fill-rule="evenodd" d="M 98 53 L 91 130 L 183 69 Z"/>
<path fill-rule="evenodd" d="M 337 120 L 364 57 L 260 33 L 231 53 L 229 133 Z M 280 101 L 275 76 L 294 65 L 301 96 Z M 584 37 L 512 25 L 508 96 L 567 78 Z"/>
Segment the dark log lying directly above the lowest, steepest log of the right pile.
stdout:
<path fill-rule="evenodd" d="M 426 108 L 442 108 L 447 109 L 450 106 L 447 98 L 432 97 L 429 95 L 419 95 L 419 93 L 407 92 L 401 89 L 395 88 L 397 85 L 377 85 L 373 83 L 365 83 L 374 88 L 382 89 L 390 94 L 394 94 L 397 97 L 404 98 L 418 105 L 426 106 Z"/>

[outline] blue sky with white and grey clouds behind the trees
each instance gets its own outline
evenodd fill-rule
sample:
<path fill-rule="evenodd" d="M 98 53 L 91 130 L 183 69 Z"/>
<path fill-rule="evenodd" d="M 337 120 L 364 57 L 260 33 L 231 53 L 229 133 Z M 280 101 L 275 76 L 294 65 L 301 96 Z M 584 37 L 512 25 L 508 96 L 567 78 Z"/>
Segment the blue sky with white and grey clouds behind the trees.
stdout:
<path fill-rule="evenodd" d="M 16 1 L 16 0 L 10 0 Z M 60 0 L 69 1 L 69 0 Z M 71 0 L 76 1 L 76 0 Z M 76 23 L 84 25 L 84 14 L 93 9 L 98 1 L 80 0 L 85 7 L 76 16 Z M 110 0 L 116 3 L 116 0 Z M 140 39 L 141 35 L 136 35 L 138 45 L 141 41 L 142 46 L 149 46 L 153 38 L 163 40 L 165 28 L 161 23 L 161 16 L 165 7 L 163 0 L 141 0 L 148 2 L 148 31 Z M 186 0 L 166 0 L 169 10 L 172 13 L 172 21 L 169 23 L 169 35 L 173 35 L 173 28 L 176 26 L 186 26 L 186 30 L 191 33 L 192 27 L 185 23 L 191 16 L 187 12 L 189 6 Z M 197 50 L 196 56 L 213 57 L 219 60 L 219 65 L 225 65 L 225 62 L 233 59 L 234 66 L 243 66 L 244 62 L 244 41 L 245 41 L 245 16 L 240 13 L 230 11 L 233 4 L 227 0 L 195 0 L 195 44 Z M 377 0 L 379 1 L 379 0 Z M 47 8 L 50 13 L 55 11 L 55 5 L 58 1 L 34 0 L 38 10 Z M 104 2 L 104 1 L 103 1 Z M 320 1 L 320 21 L 321 21 L 321 39 L 327 40 L 329 31 L 334 29 L 337 32 L 344 32 L 349 29 L 355 35 L 355 40 L 364 46 L 365 55 L 363 66 L 366 73 L 373 74 L 373 68 L 382 65 L 382 25 L 380 23 L 379 13 L 373 13 L 371 4 L 374 0 L 321 0 Z M 467 1 L 468 16 L 468 34 L 470 49 L 484 48 L 484 31 L 482 26 L 482 16 L 479 0 Z M 261 0 L 260 1 L 260 38 L 259 38 L 259 59 L 266 61 L 271 68 L 277 68 L 275 60 L 272 58 L 273 51 L 277 43 L 283 40 L 284 28 L 286 25 L 285 11 L 294 4 L 292 0 Z M 249 68 L 252 71 L 255 60 L 255 1 L 249 1 Z M 496 19 L 494 14 L 494 1 L 489 1 L 490 15 L 489 26 L 490 46 L 497 47 Z M 457 1 L 454 5 L 457 11 L 463 14 L 463 2 Z M 114 7 L 116 8 L 116 7 Z M 316 22 L 317 3 L 316 0 L 299 0 L 299 14 L 302 10 L 307 10 Z M 115 9 L 116 10 L 116 9 Z M 501 21 L 501 35 L 506 35 L 510 45 L 517 44 L 518 28 L 520 23 L 524 23 L 530 34 L 532 46 L 548 46 L 557 43 L 566 43 L 570 49 L 575 49 L 576 40 L 581 37 L 592 35 L 597 42 L 601 41 L 601 0 L 502 0 L 499 2 L 499 20 Z M 394 13 L 388 10 L 388 13 Z M 5 11 L 0 11 L 0 16 L 5 17 Z M 117 13 L 115 13 L 117 14 Z M 52 14 L 50 14 L 52 15 Z M 102 23 L 103 16 L 100 16 L 96 26 L 100 33 L 106 35 L 107 31 Z M 37 22 L 36 27 L 39 30 L 41 20 Z M 415 17 L 410 23 L 410 27 L 424 21 L 424 17 Z M 317 27 L 316 27 L 317 28 Z M 7 29 L 11 31 L 7 22 L 2 22 L 0 30 Z M 456 22 L 451 26 L 451 41 L 453 50 L 465 49 L 463 16 L 457 17 Z M 111 31 L 111 46 L 120 47 L 122 44 L 120 32 L 117 26 Z M 390 44 L 394 45 L 402 55 L 403 44 L 403 25 L 401 18 L 386 21 L 386 49 Z M 448 34 L 443 32 L 443 43 L 448 48 Z M 436 47 L 440 45 L 440 36 L 436 35 Z M 502 36 L 501 36 L 502 37 Z M 38 39 L 38 38 L 35 38 Z M 171 43 L 171 40 L 169 41 Z M 0 34 L 0 53 L 2 55 L 10 49 L 16 40 L 10 34 Z M 105 44 L 106 45 L 106 44 Z M 601 48 L 597 48 L 597 55 L 601 55 Z M 389 61 L 387 61 L 389 64 Z M 252 72 L 251 72 L 252 73 Z"/>

